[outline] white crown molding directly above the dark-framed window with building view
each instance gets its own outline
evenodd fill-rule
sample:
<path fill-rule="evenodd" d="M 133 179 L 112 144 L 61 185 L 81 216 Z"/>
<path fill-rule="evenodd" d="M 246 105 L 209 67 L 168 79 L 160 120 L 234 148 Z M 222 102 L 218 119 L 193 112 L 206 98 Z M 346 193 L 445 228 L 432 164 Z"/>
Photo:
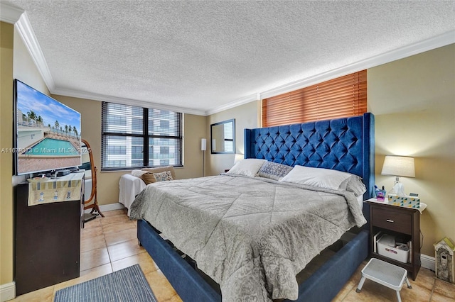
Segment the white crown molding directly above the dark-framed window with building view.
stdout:
<path fill-rule="evenodd" d="M 135 99 L 127 99 L 127 98 L 120 98 L 117 96 L 107 96 L 105 94 L 93 94 L 90 92 L 83 92 L 71 89 L 53 89 L 50 91 L 51 94 L 60 95 L 60 96 L 70 96 L 79 99 L 90 99 L 94 101 L 107 101 L 109 103 L 117 103 L 117 104 L 125 104 L 131 106 L 139 106 L 139 107 L 146 107 L 146 108 L 155 108 L 161 110 L 168 110 L 168 111 L 177 111 L 182 113 L 194 114 L 196 116 L 205 116 L 205 111 L 196 110 L 191 108 L 185 107 L 178 107 L 178 106 L 168 106 L 164 104 L 157 104 L 151 103 L 148 101 L 140 101 Z"/>

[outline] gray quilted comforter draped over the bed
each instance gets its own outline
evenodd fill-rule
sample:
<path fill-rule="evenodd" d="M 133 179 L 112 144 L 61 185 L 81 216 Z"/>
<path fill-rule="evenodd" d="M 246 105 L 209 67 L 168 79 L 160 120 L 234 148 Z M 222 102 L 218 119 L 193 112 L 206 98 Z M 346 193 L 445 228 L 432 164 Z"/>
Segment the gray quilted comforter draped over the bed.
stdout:
<path fill-rule="evenodd" d="M 366 223 L 349 192 L 232 175 L 149 184 L 130 217 L 195 259 L 223 301 L 295 300 L 296 274 Z"/>

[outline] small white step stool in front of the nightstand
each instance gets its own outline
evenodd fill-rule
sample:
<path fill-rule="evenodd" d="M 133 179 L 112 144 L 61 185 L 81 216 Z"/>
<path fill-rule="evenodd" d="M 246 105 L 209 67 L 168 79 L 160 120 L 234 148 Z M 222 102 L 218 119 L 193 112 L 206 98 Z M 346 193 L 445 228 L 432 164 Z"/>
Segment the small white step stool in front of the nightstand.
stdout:
<path fill-rule="evenodd" d="M 362 290 L 365 278 L 397 291 L 398 302 L 401 302 L 400 291 L 405 282 L 407 288 L 412 289 L 410 281 L 407 279 L 406 269 L 376 258 L 371 258 L 362 269 L 362 279 L 360 279 L 356 292 L 360 293 Z"/>

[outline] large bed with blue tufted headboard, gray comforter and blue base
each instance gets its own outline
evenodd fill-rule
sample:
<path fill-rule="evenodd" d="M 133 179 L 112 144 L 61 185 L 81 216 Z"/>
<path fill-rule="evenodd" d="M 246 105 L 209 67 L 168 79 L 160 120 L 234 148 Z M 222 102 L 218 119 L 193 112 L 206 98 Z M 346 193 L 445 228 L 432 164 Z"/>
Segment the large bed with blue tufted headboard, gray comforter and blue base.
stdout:
<path fill-rule="evenodd" d="M 246 159 L 287 164 L 291 167 L 295 166 L 295 170 L 297 167 L 302 169 L 316 167 L 349 172 L 362 177 L 366 188 L 363 198 L 370 197 L 374 183 L 373 144 L 374 118 L 370 113 L 331 121 L 245 130 Z M 284 179 L 286 177 L 282 180 Z M 139 242 L 153 257 L 183 301 L 221 301 L 222 297 L 216 287 L 210 286 L 211 281 L 206 278 L 207 274 L 220 281 L 223 301 L 236 299 L 270 301 L 272 298 L 282 297 L 299 301 L 330 301 L 333 296 L 336 296 L 368 255 L 368 226 L 365 230 L 356 232 L 352 240 L 343 245 L 331 259 L 301 284 L 296 284 L 295 275 L 299 272 L 296 269 L 303 268 L 311 260 L 310 258 L 321 252 L 319 249 L 336 242 L 346 229 L 353 225 L 362 226 L 365 223 L 362 219 L 368 220 L 368 206 L 363 206 L 363 216 L 365 216 L 363 218 L 360 213 L 362 210 L 356 204 L 353 194 L 340 194 L 331 189 L 313 188 L 309 191 L 310 188 L 305 184 L 280 182 L 274 179 L 259 180 L 255 177 L 228 173 L 217 177 L 170 181 L 154 185 L 157 188 L 151 189 L 149 189 L 151 186 L 147 186 L 139 194 L 132 205 L 132 218 L 146 218 L 151 222 L 144 219 L 138 221 Z M 218 187 L 222 184 L 228 184 L 230 189 L 218 192 Z M 273 209 L 280 208 L 277 205 L 283 202 L 294 202 L 292 197 L 296 196 L 298 190 L 317 196 L 318 201 L 321 200 L 320 202 L 325 205 L 323 210 L 311 208 L 310 216 L 301 214 L 304 216 L 282 219 L 283 211 Z M 180 198 L 178 202 L 171 200 L 178 191 L 183 191 L 178 197 Z M 273 191 L 279 194 L 272 194 Z M 258 195 L 259 193 L 263 195 Z M 272 195 L 279 198 L 267 197 Z M 201 196 L 211 196 L 213 200 L 204 201 Z M 214 196 L 217 198 L 213 198 Z M 350 220 L 350 225 L 332 228 L 332 225 L 338 225 L 338 222 L 327 223 L 327 218 L 323 215 L 325 212 L 344 211 L 337 208 L 339 202 L 331 203 L 337 198 L 347 201 L 343 203 L 342 208 L 350 210 L 348 212 L 350 219 L 345 219 Z M 151 203 L 151 200 L 154 203 Z M 205 209 L 216 208 L 216 210 L 214 212 L 196 211 L 192 204 L 197 200 L 203 203 Z M 248 203 L 248 201 L 254 202 Z M 309 207 L 311 206 L 314 205 L 311 203 Z M 290 211 L 291 215 L 294 215 L 301 212 L 299 207 L 304 206 L 294 202 L 291 203 L 291 207 L 294 208 Z M 272 212 L 262 213 L 267 212 L 268 210 L 264 210 L 267 208 L 271 208 Z M 244 212 L 237 215 L 240 209 Z M 227 220 L 226 218 L 220 220 L 218 216 L 226 216 Z M 237 219 L 238 216 L 249 218 L 240 221 Z M 316 235 L 313 235 L 310 243 L 313 245 L 314 241 L 318 242 L 314 244 L 316 250 L 312 250 L 313 247 L 309 246 L 302 249 L 304 245 L 309 245 L 309 242 L 301 239 L 298 233 L 293 233 L 294 227 L 291 225 L 299 225 L 316 216 L 322 218 L 314 220 L 314 224 L 319 225 L 320 230 L 330 228 L 334 233 L 324 235 L 313 233 Z M 176 222 L 169 226 L 169 220 L 172 219 Z M 343 218 L 335 219 L 343 221 Z M 255 223 L 250 223 L 250 220 Z M 191 221 L 195 223 L 191 225 Z M 262 228 L 264 225 L 267 227 Z M 205 230 L 205 227 L 208 227 L 208 230 Z M 251 233 L 248 235 L 242 233 L 245 228 Z M 308 226 L 300 229 L 306 230 L 306 228 Z M 175 246 L 169 245 L 159 235 L 161 231 L 170 237 Z M 183 236 L 179 238 L 176 233 L 181 233 Z M 287 233 L 291 235 L 282 236 Z M 204 238 L 202 243 L 194 241 L 198 237 Z M 280 238 L 284 240 L 280 241 Z M 293 240 L 293 245 L 288 247 L 287 241 Z M 255 242 L 255 245 L 249 246 L 248 242 Z M 210 246 L 218 250 L 210 254 Z M 307 249 L 309 252 L 306 251 Z M 197 267 L 194 262 L 184 259 L 179 250 L 196 259 Z M 302 250 L 305 252 L 301 252 Z M 232 254 L 232 251 L 242 252 L 239 255 Z M 255 266 L 257 262 L 260 262 L 259 268 Z M 200 274 L 199 271 L 203 273 Z"/>

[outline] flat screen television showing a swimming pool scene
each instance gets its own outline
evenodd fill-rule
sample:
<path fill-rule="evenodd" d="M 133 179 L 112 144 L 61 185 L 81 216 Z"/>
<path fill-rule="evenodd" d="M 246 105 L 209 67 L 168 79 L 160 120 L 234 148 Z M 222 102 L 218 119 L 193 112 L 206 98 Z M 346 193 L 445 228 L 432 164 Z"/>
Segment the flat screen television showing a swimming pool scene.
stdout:
<path fill-rule="evenodd" d="M 81 165 L 80 113 L 14 80 L 14 173 L 53 173 Z"/>

